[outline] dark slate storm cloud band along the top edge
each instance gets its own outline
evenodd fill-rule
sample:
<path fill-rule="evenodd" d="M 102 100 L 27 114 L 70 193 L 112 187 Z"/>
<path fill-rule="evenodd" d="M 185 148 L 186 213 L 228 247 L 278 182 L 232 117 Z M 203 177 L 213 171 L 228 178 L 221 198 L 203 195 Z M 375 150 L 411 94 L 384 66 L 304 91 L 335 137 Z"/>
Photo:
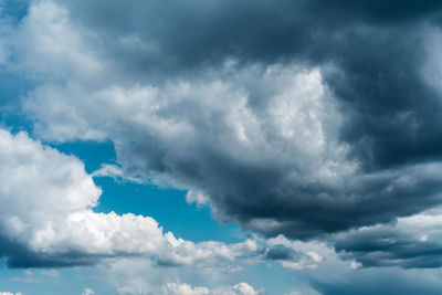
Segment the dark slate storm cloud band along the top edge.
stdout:
<path fill-rule="evenodd" d="M 298 57 L 318 63 L 367 54 L 365 61 L 370 62 L 388 49 L 380 43 L 377 49 L 383 50 L 372 51 L 377 38 L 389 38 L 391 44 L 410 40 L 413 25 L 433 19 L 441 7 L 435 0 L 61 2 L 70 7 L 74 20 L 106 40 L 105 51 L 112 57 L 117 55 L 130 71 L 156 74 L 219 65 L 227 57 L 269 63 Z M 364 35 L 359 27 L 366 27 L 369 34 Z"/>

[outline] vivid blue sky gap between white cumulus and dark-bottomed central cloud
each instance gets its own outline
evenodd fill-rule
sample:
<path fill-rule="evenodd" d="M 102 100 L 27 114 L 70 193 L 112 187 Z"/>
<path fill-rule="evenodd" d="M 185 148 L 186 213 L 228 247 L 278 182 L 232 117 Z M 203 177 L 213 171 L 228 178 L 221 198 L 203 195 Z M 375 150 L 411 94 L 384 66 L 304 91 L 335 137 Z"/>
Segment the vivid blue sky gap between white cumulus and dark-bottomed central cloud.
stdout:
<path fill-rule="evenodd" d="M 52 146 L 80 158 L 88 173 L 97 170 L 102 164 L 116 164 L 112 143 L 76 141 Z M 236 224 L 219 224 L 211 217 L 209 208 L 188 204 L 187 191 L 109 177 L 96 177 L 94 181 L 103 189 L 99 204 L 94 209 L 96 212 L 151 217 L 166 232 L 171 231 L 177 238 L 193 242 L 214 240 L 231 243 L 244 239 L 245 233 Z"/>

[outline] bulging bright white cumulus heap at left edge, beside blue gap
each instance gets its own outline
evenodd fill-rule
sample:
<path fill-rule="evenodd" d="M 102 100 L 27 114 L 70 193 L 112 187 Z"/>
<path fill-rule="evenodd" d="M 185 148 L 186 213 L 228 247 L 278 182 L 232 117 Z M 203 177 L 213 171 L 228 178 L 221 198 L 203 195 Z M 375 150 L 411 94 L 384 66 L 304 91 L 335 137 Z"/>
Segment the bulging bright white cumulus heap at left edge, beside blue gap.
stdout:
<path fill-rule="evenodd" d="M 90 210 L 101 194 L 83 164 L 20 133 L 0 129 L 0 223 L 34 249 L 62 232 L 66 215 Z M 52 233 L 52 234 L 51 234 Z"/>

